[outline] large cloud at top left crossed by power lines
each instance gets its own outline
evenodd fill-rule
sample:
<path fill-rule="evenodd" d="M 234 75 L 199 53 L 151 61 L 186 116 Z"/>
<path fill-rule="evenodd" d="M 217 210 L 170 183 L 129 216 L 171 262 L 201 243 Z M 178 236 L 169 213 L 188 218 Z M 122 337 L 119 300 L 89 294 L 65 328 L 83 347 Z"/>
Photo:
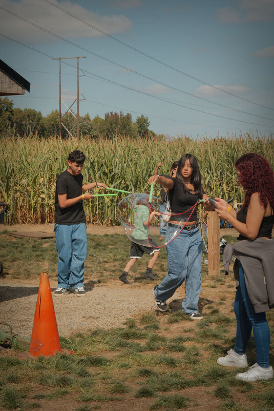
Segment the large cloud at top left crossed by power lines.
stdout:
<path fill-rule="evenodd" d="M 56 0 L 52 0 L 52 2 L 108 34 L 122 33 L 132 26 L 130 19 L 121 14 L 100 16 L 98 13 L 93 13 L 69 1 L 58 3 Z M 11 0 L 0 0 L 0 5 L 61 37 L 92 38 L 103 35 L 46 2 L 39 2 L 37 5 L 37 0 L 20 0 L 18 3 Z M 56 41 L 52 35 L 36 29 L 5 11 L 1 10 L 1 15 L 1 29 L 7 36 L 20 38 L 20 41 L 28 43 L 52 43 Z"/>

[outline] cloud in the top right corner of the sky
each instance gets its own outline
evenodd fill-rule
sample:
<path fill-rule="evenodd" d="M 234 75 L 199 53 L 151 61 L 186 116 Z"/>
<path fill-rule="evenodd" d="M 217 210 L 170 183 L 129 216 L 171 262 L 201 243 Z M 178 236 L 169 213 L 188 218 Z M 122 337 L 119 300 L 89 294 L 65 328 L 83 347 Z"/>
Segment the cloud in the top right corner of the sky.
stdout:
<path fill-rule="evenodd" d="M 220 7 L 221 23 L 270 22 L 274 19 L 274 0 L 235 0 L 236 7 Z"/>

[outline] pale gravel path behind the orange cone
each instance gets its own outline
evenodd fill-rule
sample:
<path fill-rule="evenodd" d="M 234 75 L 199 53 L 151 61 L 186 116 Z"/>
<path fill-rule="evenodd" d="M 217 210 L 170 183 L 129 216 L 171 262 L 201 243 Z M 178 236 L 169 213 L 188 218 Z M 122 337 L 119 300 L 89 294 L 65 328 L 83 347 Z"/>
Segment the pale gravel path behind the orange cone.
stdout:
<path fill-rule="evenodd" d="M 13 331 L 30 337 L 37 301 L 39 280 L 7 280 L 0 278 L 0 321 L 13 325 Z M 52 291 L 56 281 L 50 281 Z M 152 285 L 125 285 L 119 280 L 86 285 L 85 297 L 68 295 L 53 297 L 60 336 L 76 331 L 122 326 L 123 322 L 142 312 L 154 310 Z M 2 326 L 0 326 L 2 327 Z"/>

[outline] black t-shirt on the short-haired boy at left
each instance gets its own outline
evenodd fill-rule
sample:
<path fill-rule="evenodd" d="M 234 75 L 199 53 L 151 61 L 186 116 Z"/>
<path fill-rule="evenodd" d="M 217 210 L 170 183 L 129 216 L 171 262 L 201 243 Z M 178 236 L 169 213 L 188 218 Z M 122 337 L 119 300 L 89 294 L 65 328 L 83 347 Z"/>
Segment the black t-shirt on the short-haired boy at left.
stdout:
<path fill-rule="evenodd" d="M 67 208 L 60 208 L 58 194 L 67 194 L 67 199 L 74 199 L 82 194 L 83 176 L 72 175 L 68 170 L 62 172 L 56 180 L 55 190 L 55 223 L 57 224 L 80 224 L 86 223 L 83 210 L 83 202 L 78 201 Z"/>

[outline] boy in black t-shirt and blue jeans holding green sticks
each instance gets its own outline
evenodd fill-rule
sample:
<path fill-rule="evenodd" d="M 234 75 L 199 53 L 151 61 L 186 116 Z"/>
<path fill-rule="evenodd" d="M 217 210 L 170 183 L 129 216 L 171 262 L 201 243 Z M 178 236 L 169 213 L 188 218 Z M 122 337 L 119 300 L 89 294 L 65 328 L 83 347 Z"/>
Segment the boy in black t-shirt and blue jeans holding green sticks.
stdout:
<path fill-rule="evenodd" d="M 87 227 L 83 200 L 90 200 L 91 188 L 105 188 L 103 183 L 83 185 L 81 174 L 85 154 L 74 150 L 68 157 L 68 170 L 56 180 L 55 224 L 56 249 L 58 252 L 58 287 L 54 296 L 70 292 L 70 286 L 77 296 L 86 294 L 83 288 L 84 262 L 87 257 Z"/>

